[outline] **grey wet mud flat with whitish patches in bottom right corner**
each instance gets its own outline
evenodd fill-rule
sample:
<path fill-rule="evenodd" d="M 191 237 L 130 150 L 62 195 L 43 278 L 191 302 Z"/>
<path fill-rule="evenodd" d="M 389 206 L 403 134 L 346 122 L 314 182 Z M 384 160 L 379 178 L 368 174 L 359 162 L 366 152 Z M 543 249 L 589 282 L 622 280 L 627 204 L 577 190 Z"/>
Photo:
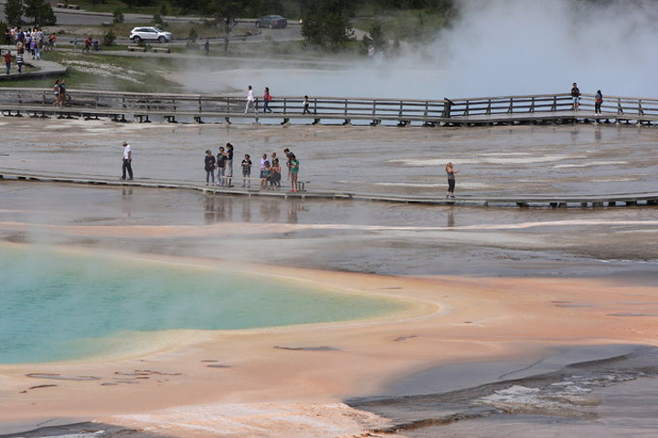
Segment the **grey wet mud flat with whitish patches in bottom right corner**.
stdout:
<path fill-rule="evenodd" d="M 658 430 L 656 376 L 656 348 L 569 347 L 525 366 L 493 362 L 427 370 L 391 385 L 391 395 L 346 402 L 389 419 L 372 432 L 411 438 L 543 437 L 557 431 L 651 436 L 645 433 Z"/>

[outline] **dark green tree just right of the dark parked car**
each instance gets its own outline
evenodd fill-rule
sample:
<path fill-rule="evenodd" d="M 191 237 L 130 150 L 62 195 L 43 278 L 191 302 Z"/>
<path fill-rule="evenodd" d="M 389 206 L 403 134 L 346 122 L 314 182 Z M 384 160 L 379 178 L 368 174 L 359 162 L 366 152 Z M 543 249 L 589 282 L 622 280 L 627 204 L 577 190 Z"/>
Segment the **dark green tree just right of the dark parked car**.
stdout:
<path fill-rule="evenodd" d="M 333 50 L 344 47 L 354 32 L 347 0 L 304 0 L 302 36 L 310 44 Z"/>

